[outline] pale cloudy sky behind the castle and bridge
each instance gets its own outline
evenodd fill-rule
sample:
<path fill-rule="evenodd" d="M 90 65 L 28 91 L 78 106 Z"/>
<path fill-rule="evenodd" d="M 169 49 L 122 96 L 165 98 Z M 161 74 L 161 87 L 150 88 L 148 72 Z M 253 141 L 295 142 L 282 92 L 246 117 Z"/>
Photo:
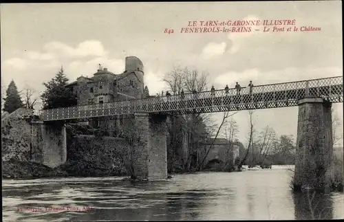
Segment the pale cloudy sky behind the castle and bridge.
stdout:
<path fill-rule="evenodd" d="M 215 89 L 235 82 L 246 86 L 250 80 L 264 85 L 343 75 L 341 1 L 6 3 L 0 8 L 4 88 L 13 79 L 19 90 L 30 87 L 41 93 L 42 83 L 61 65 L 71 82 L 92 76 L 99 63 L 120 74 L 125 56 L 142 60 L 151 95 L 166 91 L 162 78 L 178 66 L 208 72 L 208 88 Z M 181 33 L 193 21 L 200 27 L 200 21 L 280 19 L 294 20 L 286 27 L 321 30 L 263 32 L 261 25 L 252 32 Z M 173 33 L 164 33 L 166 29 Z M 343 104 L 333 107 L 343 122 Z M 296 136 L 297 112 L 297 107 L 257 110 L 255 129 L 270 126 L 278 135 Z M 219 123 L 222 116 L 213 118 Z M 233 119 L 245 144 L 248 112 Z M 338 127 L 343 135 L 343 126 Z"/>

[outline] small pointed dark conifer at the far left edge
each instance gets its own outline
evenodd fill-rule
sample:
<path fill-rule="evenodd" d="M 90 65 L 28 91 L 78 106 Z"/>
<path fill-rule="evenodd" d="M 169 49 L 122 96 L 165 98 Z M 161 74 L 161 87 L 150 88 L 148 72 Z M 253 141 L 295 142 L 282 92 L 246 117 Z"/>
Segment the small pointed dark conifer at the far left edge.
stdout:
<path fill-rule="evenodd" d="M 8 113 L 12 113 L 13 111 L 23 107 L 23 101 L 21 100 L 21 96 L 19 95 L 14 80 L 12 80 L 10 85 L 8 85 L 6 98 L 3 98 L 3 100 L 5 101 L 3 103 L 3 111 L 7 111 Z"/>

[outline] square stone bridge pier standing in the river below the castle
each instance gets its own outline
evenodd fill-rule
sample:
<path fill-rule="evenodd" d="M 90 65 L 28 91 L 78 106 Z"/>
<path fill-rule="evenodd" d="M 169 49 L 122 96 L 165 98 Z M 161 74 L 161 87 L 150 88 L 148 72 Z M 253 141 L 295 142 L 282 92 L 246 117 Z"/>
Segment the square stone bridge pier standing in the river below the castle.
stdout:
<path fill-rule="evenodd" d="M 138 179 L 167 179 L 166 115 L 135 113 L 138 141 L 133 170 Z"/>

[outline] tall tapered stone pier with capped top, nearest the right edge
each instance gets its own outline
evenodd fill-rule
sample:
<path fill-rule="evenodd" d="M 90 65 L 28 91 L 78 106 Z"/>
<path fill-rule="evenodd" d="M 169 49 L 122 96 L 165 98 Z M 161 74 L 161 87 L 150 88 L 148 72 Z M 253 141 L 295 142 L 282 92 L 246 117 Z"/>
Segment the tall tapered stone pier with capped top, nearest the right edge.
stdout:
<path fill-rule="evenodd" d="M 328 190 L 332 170 L 332 103 L 323 98 L 299 100 L 295 188 Z"/>

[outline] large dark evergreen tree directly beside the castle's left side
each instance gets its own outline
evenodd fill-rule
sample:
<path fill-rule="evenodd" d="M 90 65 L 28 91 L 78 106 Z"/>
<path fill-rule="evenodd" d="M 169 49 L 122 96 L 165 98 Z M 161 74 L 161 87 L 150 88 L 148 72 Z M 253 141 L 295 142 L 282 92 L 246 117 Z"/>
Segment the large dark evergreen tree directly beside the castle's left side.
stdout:
<path fill-rule="evenodd" d="M 72 107 L 76 105 L 76 94 L 66 87 L 69 79 L 63 73 L 63 68 L 50 82 L 44 82 L 46 87 L 41 95 L 43 109 L 54 109 L 60 107 Z"/>

